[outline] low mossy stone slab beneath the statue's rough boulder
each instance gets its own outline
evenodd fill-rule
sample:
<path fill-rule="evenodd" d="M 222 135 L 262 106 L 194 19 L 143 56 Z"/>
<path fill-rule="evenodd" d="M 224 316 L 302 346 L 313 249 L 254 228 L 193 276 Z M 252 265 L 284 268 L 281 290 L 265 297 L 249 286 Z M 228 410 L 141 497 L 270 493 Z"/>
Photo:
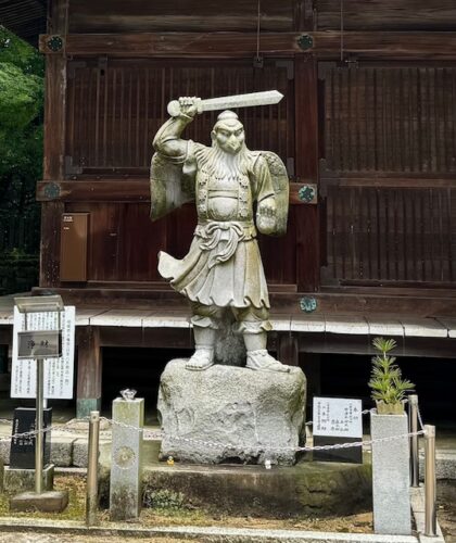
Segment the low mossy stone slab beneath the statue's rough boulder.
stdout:
<path fill-rule="evenodd" d="M 266 518 L 322 517 L 371 510 L 371 467 L 301 459 L 295 466 L 198 466 L 157 462 L 160 442 L 144 441 L 143 492 L 183 494 L 191 506 L 218 514 Z M 106 503 L 109 467 L 101 462 L 100 495 Z"/>

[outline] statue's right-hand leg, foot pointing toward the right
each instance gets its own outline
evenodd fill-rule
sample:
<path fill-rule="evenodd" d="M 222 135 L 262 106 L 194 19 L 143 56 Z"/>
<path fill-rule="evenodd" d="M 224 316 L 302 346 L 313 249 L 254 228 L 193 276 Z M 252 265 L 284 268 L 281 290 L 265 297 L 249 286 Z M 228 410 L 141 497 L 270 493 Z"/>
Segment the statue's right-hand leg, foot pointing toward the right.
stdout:
<path fill-rule="evenodd" d="M 271 329 L 266 307 L 235 310 L 238 329 L 243 334 L 246 349 L 246 367 L 261 371 L 290 371 L 290 366 L 276 361 L 266 350 L 267 331 Z"/>

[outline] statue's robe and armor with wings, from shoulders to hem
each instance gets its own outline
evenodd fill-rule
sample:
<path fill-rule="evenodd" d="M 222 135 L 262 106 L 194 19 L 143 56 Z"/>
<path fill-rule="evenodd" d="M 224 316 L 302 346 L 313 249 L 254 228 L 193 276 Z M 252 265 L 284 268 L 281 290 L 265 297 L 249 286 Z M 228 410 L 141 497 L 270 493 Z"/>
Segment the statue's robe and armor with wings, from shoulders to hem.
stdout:
<path fill-rule="evenodd" d="M 192 198 L 198 212 L 189 253 L 177 260 L 161 252 L 159 272 L 192 302 L 269 308 L 253 203 L 276 198 L 278 213 L 273 233 L 282 233 L 288 211 L 287 172 L 274 153 L 246 151 L 244 167 L 235 175 L 224 175 L 214 167 L 214 148 L 190 141 L 183 157 L 167 161 L 156 153 L 152 160 L 152 218 Z M 274 168 L 275 177 L 270 173 Z"/>

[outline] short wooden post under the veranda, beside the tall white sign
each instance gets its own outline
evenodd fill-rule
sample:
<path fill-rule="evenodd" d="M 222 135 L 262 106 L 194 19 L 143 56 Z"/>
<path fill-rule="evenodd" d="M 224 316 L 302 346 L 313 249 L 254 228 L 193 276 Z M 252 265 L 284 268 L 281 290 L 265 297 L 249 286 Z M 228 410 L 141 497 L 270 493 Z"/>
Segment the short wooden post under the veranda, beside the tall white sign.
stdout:
<path fill-rule="evenodd" d="M 87 417 L 101 407 L 102 352 L 100 329 L 88 326 L 77 329 L 76 416 Z"/>

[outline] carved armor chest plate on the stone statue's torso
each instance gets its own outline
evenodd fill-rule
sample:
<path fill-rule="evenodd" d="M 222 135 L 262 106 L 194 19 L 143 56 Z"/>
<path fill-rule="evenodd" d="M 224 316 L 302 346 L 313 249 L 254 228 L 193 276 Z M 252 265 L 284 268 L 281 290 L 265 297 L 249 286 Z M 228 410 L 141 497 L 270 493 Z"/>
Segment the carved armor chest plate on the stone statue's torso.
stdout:
<path fill-rule="evenodd" d="M 197 173 L 197 209 L 200 219 L 250 220 L 252 191 L 248 175 L 211 175 L 205 167 Z"/>

